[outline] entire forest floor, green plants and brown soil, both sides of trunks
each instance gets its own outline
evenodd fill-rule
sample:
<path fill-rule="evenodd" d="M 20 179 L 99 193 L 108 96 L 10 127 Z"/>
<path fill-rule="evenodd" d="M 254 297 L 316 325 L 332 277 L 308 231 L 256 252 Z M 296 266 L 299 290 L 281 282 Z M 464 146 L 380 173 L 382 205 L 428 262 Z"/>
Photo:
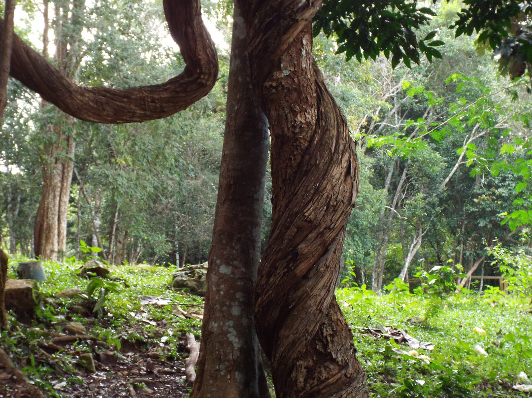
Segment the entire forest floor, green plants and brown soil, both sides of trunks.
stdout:
<path fill-rule="evenodd" d="M 11 260 L 12 277 L 21 260 Z M 188 396 L 185 335 L 200 337 L 202 297 L 171 288 L 172 267 L 108 267 L 109 278 L 87 278 L 81 265 L 44 262 L 35 313 L 9 314 L 0 347 L 15 366 L 45 397 Z M 455 294 L 433 277 L 384 295 L 337 290 L 370 397 L 530 396 L 532 288 Z M 0 398 L 35 398 L 1 364 L 0 351 Z"/>

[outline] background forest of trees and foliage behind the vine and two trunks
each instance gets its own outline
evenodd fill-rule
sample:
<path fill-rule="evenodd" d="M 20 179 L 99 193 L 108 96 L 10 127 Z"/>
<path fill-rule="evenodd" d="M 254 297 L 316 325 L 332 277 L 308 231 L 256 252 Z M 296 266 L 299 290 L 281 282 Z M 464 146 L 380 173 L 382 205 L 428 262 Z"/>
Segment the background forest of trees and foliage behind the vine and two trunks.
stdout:
<path fill-rule="evenodd" d="M 43 7 L 22 2 L 16 31 L 82 85 L 149 84 L 182 67 L 155 3 L 54 2 L 46 5 L 49 26 Z M 418 268 L 460 264 L 498 275 L 493 248 L 529 243 L 529 81 L 501 76 L 475 37 L 454 37 L 448 27 L 459 3 L 436 7 L 427 33 L 436 30 L 442 59 L 431 63 L 346 62 L 331 39 L 315 39 L 315 57 L 361 159 L 344 276 L 376 292 Z M 225 118 L 229 48 L 222 38 L 230 25 L 222 3 L 207 2 L 205 10 L 218 28 L 218 84 L 168 119 L 74 121 L 10 81 L 0 137 L 9 252 L 79 258 L 83 241 L 112 264 L 206 260 Z M 53 31 L 49 42 L 37 26 Z M 268 194 L 265 204 L 263 243 Z"/>

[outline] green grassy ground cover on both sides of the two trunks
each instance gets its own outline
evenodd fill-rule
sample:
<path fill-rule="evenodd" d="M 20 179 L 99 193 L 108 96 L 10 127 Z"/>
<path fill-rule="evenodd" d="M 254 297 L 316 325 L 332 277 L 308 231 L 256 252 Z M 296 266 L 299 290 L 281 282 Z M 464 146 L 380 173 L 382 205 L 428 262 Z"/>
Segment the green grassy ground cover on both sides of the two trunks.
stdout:
<path fill-rule="evenodd" d="M 15 264 L 24 260 L 10 261 L 11 276 L 15 276 Z M 38 359 L 37 341 L 43 336 L 42 330 L 55 327 L 59 332 L 56 325 L 65 321 L 87 323 L 87 316 L 73 312 L 75 305 L 87 302 L 86 297 L 57 299 L 56 294 L 73 287 L 86 291 L 89 280 L 78 275 L 81 264 L 75 261 L 44 262 L 43 266 L 48 279 L 39 283 L 36 317 L 28 326 L 10 316 L 12 327 L 2 332 L 0 344 L 15 353 L 19 366 L 48 396 L 61 396 L 47 383 L 57 378 L 57 368 L 70 375 L 65 376 L 66 383 L 80 383 L 73 371 L 75 361 L 67 353 L 58 353 L 54 367 L 45 366 Z M 145 344 L 156 347 L 162 359 L 179 358 L 183 354 L 180 339 L 187 331 L 199 336 L 201 321 L 176 316 L 172 305 L 199 313 L 202 299 L 173 291 L 173 267 L 109 269 L 114 287 L 105 293 L 108 300 L 104 311 L 91 324 L 90 333 L 115 351 Z M 104 283 L 102 289 L 105 286 Z M 99 291 L 98 287 L 93 303 Z M 139 297 L 145 295 L 164 297 L 170 302 L 162 306 L 142 305 Z M 403 288 L 388 295 L 373 295 L 363 286 L 338 289 L 337 300 L 352 327 L 372 398 L 529 396 L 512 389 L 516 384 L 532 384 L 519 376 L 532 376 L 529 297 L 514 297 L 498 289 L 484 295 L 467 291 L 430 295 L 411 294 Z M 393 340 L 371 337 L 363 331 L 380 325 L 405 330 L 421 342 L 433 343 L 434 350 L 399 346 Z M 76 349 L 90 351 L 84 343 Z"/>

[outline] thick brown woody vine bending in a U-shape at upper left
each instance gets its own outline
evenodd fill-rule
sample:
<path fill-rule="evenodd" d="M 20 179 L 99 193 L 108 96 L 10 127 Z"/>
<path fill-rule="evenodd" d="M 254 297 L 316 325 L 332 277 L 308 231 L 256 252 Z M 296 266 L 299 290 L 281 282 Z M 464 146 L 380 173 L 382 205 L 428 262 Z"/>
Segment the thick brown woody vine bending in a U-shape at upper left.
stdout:
<path fill-rule="evenodd" d="M 218 77 L 217 54 L 202 22 L 199 0 L 164 0 L 163 5 L 172 37 L 186 62 L 181 74 L 163 84 L 122 90 L 80 87 L 16 35 L 11 76 L 62 111 L 86 121 L 140 122 L 184 110 L 214 86 Z M 4 21 L 1 22 L 3 28 Z"/>

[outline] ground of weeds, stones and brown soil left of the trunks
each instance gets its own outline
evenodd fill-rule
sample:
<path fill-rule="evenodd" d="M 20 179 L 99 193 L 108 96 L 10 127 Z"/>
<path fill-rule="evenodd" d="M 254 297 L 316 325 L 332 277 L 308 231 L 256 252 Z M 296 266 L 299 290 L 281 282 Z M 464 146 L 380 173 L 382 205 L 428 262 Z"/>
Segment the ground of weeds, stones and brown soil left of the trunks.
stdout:
<path fill-rule="evenodd" d="M 44 396 L 188 396 L 185 334 L 200 334 L 203 303 L 170 287 L 174 269 L 110 267 L 110 278 L 89 279 L 73 261 L 43 265 L 35 314 L 10 313 L 0 346 Z M 26 397 L 34 395 L 0 363 L 0 398 Z"/>

